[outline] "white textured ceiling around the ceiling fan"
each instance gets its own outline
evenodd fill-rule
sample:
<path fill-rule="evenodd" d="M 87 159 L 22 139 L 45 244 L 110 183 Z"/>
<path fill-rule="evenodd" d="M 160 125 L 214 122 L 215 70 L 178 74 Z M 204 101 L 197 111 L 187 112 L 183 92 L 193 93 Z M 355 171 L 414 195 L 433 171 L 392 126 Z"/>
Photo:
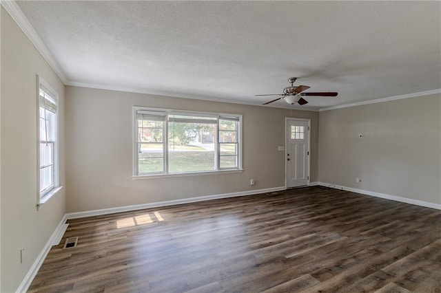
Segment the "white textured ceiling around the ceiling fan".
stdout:
<path fill-rule="evenodd" d="M 262 104 L 295 76 L 339 93 L 305 108 L 441 88 L 440 1 L 17 3 L 70 85 Z"/>

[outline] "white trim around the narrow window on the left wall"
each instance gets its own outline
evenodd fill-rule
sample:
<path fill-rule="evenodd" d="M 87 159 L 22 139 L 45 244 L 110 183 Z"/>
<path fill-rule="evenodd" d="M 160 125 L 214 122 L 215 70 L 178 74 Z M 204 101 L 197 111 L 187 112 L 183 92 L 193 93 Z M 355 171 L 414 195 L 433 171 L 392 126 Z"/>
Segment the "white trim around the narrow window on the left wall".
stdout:
<path fill-rule="evenodd" d="M 54 96 L 57 103 L 57 112 L 55 113 L 55 140 L 54 140 L 54 182 L 51 188 L 48 188 L 43 193 L 40 193 L 40 89 L 41 86 L 45 87 L 50 94 Z M 37 209 L 40 208 L 45 202 L 58 191 L 61 190 L 59 182 L 59 94 L 53 87 L 49 85 L 41 76 L 37 74 Z"/>

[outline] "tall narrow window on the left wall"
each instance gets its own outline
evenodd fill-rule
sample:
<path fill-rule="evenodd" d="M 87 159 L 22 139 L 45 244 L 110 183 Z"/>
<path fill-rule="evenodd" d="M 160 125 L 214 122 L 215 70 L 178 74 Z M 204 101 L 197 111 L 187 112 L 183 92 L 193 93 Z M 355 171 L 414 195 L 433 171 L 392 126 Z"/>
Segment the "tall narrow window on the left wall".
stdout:
<path fill-rule="evenodd" d="M 39 78 L 39 199 L 58 187 L 57 108 L 57 94 Z"/>

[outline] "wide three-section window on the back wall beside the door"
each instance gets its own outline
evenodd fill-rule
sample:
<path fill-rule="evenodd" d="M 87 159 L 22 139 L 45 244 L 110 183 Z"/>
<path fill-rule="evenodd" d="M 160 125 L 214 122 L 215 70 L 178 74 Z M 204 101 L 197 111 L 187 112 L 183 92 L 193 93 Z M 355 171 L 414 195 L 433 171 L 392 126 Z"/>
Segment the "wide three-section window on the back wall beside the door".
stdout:
<path fill-rule="evenodd" d="M 134 107 L 134 119 L 134 175 L 241 168 L 241 116 Z"/>

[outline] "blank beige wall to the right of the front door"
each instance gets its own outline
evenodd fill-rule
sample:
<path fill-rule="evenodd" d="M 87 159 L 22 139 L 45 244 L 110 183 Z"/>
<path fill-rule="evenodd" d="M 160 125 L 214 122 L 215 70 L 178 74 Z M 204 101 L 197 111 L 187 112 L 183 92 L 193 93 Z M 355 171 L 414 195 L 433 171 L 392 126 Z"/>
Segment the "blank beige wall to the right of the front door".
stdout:
<path fill-rule="evenodd" d="M 435 94 L 321 111 L 319 181 L 441 204 L 440 104 Z"/>

